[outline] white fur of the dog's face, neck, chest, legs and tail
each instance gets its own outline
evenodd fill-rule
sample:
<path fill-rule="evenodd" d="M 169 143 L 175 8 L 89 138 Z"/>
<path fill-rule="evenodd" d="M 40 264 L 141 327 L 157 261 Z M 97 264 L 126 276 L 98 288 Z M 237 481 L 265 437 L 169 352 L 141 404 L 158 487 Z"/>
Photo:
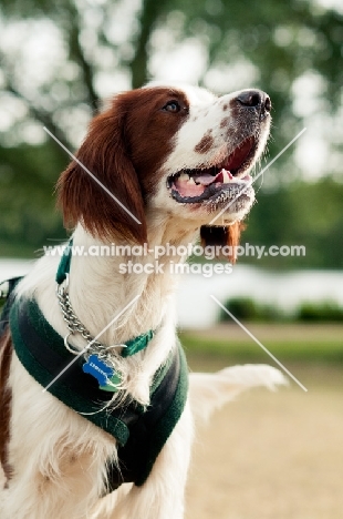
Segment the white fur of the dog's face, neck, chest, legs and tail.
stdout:
<path fill-rule="evenodd" d="M 216 126 L 222 104 L 207 91 L 189 89 L 191 118 L 180 128 L 176 147 L 162 167 L 162 180 L 155 200 L 147 210 L 149 246 L 188 244 L 196 236 L 200 223 L 189 217 L 187 207 L 173 202 L 166 190 L 166 175 L 187 164 L 194 166 L 194 145 L 201 139 L 204 128 Z M 205 114 L 205 109 L 209 114 Z M 266 132 L 267 134 L 268 132 Z M 267 139 L 267 135 L 266 135 Z M 266 140 L 264 139 L 264 140 Z M 222 136 L 216 134 L 220 155 Z M 261 144 L 261 152 L 263 142 Z M 205 157 L 209 160 L 209 156 Z M 198 157 L 199 160 L 199 157 Z M 235 215 L 237 217 L 237 215 Z M 207 221 L 209 221 L 207 215 Z M 74 245 L 98 245 L 81 225 L 74 232 Z M 46 319 L 62 335 L 65 323 L 55 297 L 54 276 L 59 256 L 45 255 L 21 282 L 19 297 L 37 298 Z M 152 256 L 134 258 L 153 262 Z M 159 258 L 181 261 L 178 256 Z M 141 295 L 101 337 L 105 344 L 118 344 L 147 329 L 157 333 L 148 348 L 122 359 L 125 390 L 142 404 L 148 404 L 149 385 L 154 373 L 175 346 L 176 319 L 174 294 L 175 275 L 123 275 L 118 273 L 122 257 L 72 258 L 70 297 L 73 308 L 91 334 L 97 335 L 132 299 Z M 72 344 L 84 347 L 76 337 Z M 105 462 L 116 459 L 116 441 L 83 417 L 76 415 L 42 388 L 28 375 L 13 355 L 10 373 L 13 390 L 10 462 L 14 468 L 9 489 L 3 490 L 0 503 L 1 519 L 181 519 L 184 490 L 190 457 L 194 416 L 207 418 L 211 410 L 253 386 L 273 388 L 284 384 L 277 369 L 269 366 L 236 366 L 217 374 L 191 374 L 189 399 L 172 436 L 157 458 L 146 484 L 138 488 L 123 485 L 117 491 L 100 499 L 104 490 Z"/>

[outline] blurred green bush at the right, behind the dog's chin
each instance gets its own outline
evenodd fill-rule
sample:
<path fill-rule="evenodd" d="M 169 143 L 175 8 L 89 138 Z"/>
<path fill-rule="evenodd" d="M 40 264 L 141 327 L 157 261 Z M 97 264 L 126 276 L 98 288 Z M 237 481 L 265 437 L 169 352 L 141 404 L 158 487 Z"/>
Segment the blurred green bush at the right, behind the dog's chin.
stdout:
<path fill-rule="evenodd" d="M 268 268 L 341 268 L 343 264 L 343 183 L 323 177 L 316 183 L 294 181 L 276 191 L 260 191 L 245 243 L 278 247 L 303 245 L 305 254 L 242 257 Z M 285 253 L 288 251 L 285 250 Z M 297 254 L 297 252 L 294 252 Z"/>

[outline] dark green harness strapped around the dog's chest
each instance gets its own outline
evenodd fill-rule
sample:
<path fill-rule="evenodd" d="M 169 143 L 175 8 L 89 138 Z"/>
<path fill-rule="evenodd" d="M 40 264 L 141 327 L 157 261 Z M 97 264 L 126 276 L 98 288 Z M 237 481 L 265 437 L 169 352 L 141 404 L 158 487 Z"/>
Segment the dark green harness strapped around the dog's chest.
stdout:
<path fill-rule="evenodd" d="M 63 261 L 67 264 L 67 257 Z M 48 323 L 34 299 L 15 298 L 15 283 L 11 283 L 12 289 L 2 312 L 0 335 L 9 324 L 19 360 L 42 387 L 49 386 L 70 365 L 46 390 L 117 440 L 119 467 L 108 464 L 106 492 L 123 482 L 142 486 L 186 404 L 188 368 L 180 344 L 155 373 L 147 408 L 134 400 L 115 409 L 104 408 L 112 394 L 102 390 L 97 380 L 84 373 L 84 358 L 67 352 L 63 337 Z M 150 337 L 149 333 L 144 335 Z M 142 336 L 137 340 L 142 344 Z M 135 339 L 127 344 L 134 355 Z"/>

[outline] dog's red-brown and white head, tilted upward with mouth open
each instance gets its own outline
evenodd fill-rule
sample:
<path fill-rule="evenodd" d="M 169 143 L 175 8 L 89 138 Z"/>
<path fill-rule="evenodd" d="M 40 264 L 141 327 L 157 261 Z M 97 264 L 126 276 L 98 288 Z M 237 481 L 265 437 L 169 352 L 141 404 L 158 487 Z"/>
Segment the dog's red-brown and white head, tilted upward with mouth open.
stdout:
<path fill-rule="evenodd" d="M 147 212 L 205 230 L 220 213 L 214 225 L 232 241 L 254 200 L 251 186 L 241 191 L 269 128 L 270 99 L 259 90 L 217 98 L 153 83 L 118 94 L 59 181 L 64 218 L 102 238 L 143 243 Z"/>

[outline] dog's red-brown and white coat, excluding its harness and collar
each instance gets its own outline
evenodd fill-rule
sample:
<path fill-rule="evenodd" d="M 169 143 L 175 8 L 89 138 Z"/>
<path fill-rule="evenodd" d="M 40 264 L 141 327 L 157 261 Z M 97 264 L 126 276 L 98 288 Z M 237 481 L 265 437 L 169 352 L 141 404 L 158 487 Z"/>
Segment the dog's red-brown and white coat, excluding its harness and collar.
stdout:
<path fill-rule="evenodd" d="M 73 161 L 58 183 L 65 224 L 74 227 L 73 245 L 86 251 L 111 243 L 147 243 L 148 254 L 127 253 L 125 261 L 154 263 L 155 246 L 194 243 L 201 226 L 206 240 L 208 224 L 225 207 L 214 225 L 225 227 L 229 243 L 237 244 L 240 222 L 254 201 L 251 186 L 242 191 L 263 152 L 270 119 L 269 96 L 252 89 L 216 96 L 200 88 L 150 83 L 116 95 L 91 122 L 76 156 L 122 205 Z M 122 391 L 148 408 L 154 375 L 177 347 L 178 279 L 166 266 L 185 257 L 176 253 L 159 261 L 163 273 L 129 275 L 118 271 L 123 257 L 72 257 L 70 301 L 94 337 L 137 295 L 100 340 L 124 344 L 155 330 L 148 346 L 135 355 L 124 358 L 113 350 L 122 386 L 108 413 L 119 405 Z M 18 299 L 34 298 L 64 337 L 54 281 L 59 262 L 58 255 L 44 255 L 15 294 Z M 72 342 L 80 350 L 85 346 L 77 335 Z M 106 495 L 108 459 L 118 462 L 116 439 L 42 391 L 13 350 L 10 326 L 0 354 L 1 461 L 7 479 L 1 519 L 181 519 L 197 418 L 208 417 L 249 387 L 284 383 L 279 370 L 264 365 L 191 373 L 184 411 L 145 484 L 125 482 Z"/>

